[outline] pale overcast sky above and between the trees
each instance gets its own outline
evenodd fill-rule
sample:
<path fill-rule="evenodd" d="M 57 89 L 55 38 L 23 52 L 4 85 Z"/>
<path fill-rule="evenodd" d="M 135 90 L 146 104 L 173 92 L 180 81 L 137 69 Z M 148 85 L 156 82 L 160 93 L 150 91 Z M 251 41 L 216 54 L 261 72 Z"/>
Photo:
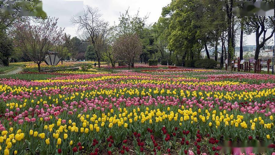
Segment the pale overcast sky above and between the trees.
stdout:
<path fill-rule="evenodd" d="M 151 24 L 159 19 L 162 8 L 167 6 L 171 0 L 42 0 L 42 2 L 43 10 L 48 16 L 59 18 L 58 26 L 65 28 L 65 32 L 71 36 L 77 36 L 70 19 L 73 15 L 81 15 L 84 5 L 98 7 L 102 18 L 110 25 L 117 23 L 120 13 L 124 13 L 128 8 L 130 15 L 136 14 L 138 10 L 141 17 L 149 15 L 148 24 Z M 270 35 L 270 33 L 271 31 L 268 31 L 266 34 Z M 244 45 L 255 44 L 255 34 L 245 36 Z"/>

